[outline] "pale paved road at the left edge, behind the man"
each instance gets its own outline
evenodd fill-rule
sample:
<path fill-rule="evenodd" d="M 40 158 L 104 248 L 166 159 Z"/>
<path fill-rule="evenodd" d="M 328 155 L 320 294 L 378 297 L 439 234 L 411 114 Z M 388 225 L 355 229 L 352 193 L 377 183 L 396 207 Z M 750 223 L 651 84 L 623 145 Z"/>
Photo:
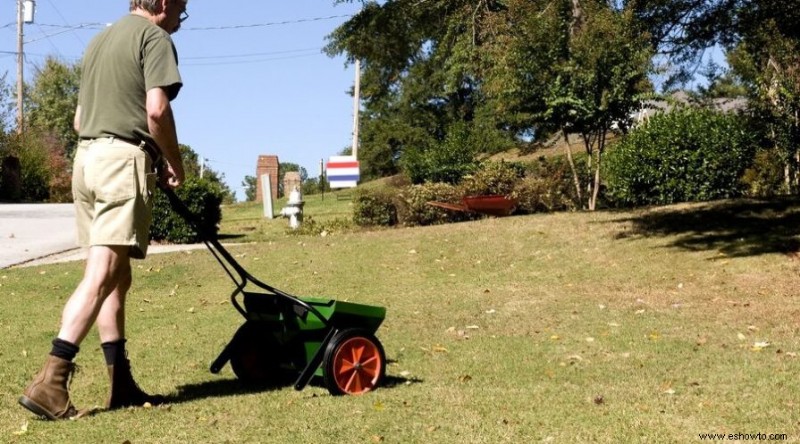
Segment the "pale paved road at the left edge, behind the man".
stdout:
<path fill-rule="evenodd" d="M 0 204 L 0 269 L 73 250 L 72 204 Z"/>

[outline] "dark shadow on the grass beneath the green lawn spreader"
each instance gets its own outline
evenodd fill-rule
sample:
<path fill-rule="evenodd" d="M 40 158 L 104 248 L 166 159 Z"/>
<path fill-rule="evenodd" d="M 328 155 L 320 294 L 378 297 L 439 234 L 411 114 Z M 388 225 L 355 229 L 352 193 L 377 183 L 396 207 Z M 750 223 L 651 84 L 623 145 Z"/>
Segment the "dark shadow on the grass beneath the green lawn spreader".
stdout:
<path fill-rule="evenodd" d="M 378 390 L 395 388 L 403 385 L 422 383 L 421 379 L 403 378 L 400 376 L 386 375 L 383 383 Z M 272 390 L 281 390 L 291 387 L 294 381 L 269 382 L 263 384 L 244 383 L 239 379 L 222 379 L 205 381 L 197 384 L 186 384 L 178 386 L 174 393 L 166 396 L 166 403 L 180 404 L 183 402 L 196 401 L 198 399 L 218 398 L 224 396 L 246 395 L 251 393 L 262 393 Z M 325 382 L 320 377 L 314 377 L 309 385 L 314 387 L 325 387 Z"/>

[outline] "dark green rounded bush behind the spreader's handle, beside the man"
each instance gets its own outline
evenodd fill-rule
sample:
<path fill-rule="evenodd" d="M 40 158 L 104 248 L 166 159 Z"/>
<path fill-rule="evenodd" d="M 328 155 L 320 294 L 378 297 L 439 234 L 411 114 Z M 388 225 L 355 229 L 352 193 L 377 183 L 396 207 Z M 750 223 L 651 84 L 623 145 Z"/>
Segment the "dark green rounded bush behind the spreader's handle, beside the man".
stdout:
<path fill-rule="evenodd" d="M 201 228 L 209 235 L 216 236 L 218 224 L 222 220 L 223 191 L 208 180 L 197 177 L 187 178 L 175 190 L 175 194 L 186 204 L 189 211 L 199 219 Z M 172 209 L 167 196 L 156 188 L 153 201 L 153 224 L 150 238 L 178 244 L 201 241 L 197 230 Z"/>

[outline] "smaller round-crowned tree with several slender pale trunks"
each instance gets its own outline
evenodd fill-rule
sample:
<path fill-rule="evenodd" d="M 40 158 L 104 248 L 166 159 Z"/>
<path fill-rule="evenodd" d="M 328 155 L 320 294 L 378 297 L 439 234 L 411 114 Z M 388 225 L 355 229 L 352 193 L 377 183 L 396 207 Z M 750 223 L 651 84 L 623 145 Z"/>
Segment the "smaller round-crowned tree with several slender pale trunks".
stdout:
<path fill-rule="evenodd" d="M 601 188 L 608 134 L 628 124 L 647 80 L 652 51 L 630 10 L 605 1 L 506 2 L 487 35 L 484 94 L 495 115 L 517 130 L 561 133 L 576 193 L 590 210 Z M 581 136 L 591 181 L 583 197 L 569 134 Z"/>

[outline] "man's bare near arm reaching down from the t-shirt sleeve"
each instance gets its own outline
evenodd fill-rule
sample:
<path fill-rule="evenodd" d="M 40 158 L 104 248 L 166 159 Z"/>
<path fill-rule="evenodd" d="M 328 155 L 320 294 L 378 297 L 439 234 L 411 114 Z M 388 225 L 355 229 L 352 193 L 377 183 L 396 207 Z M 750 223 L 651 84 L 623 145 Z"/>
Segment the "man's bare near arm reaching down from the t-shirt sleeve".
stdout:
<path fill-rule="evenodd" d="M 167 176 L 163 179 L 166 185 L 177 188 L 184 180 L 183 161 L 172 106 L 163 88 L 147 91 L 147 128 L 167 161 Z"/>

